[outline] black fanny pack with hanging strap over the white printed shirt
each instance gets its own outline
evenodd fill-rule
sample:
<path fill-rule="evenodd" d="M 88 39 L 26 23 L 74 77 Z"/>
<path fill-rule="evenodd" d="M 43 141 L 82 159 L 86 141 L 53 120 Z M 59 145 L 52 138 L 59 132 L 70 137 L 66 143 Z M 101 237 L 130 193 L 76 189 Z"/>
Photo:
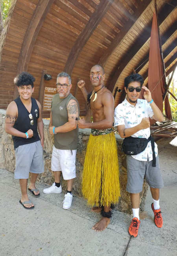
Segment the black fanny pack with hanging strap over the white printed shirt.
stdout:
<path fill-rule="evenodd" d="M 153 152 L 153 164 L 152 166 L 156 166 L 156 158 L 155 158 L 155 145 L 154 145 L 154 138 L 149 136 L 148 139 L 146 138 L 135 138 L 135 137 L 126 137 L 122 143 L 122 150 L 126 155 L 137 155 L 145 150 L 147 147 L 147 143 L 151 141 L 151 147 Z"/>

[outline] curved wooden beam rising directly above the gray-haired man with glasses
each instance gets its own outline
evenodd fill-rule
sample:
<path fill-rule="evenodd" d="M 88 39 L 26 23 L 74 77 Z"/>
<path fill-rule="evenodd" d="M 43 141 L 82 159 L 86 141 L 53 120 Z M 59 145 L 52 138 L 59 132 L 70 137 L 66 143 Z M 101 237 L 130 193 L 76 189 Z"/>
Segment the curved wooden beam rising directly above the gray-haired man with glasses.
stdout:
<path fill-rule="evenodd" d="M 74 68 L 74 65 L 77 61 L 77 58 L 81 50 L 89 40 L 90 36 L 94 32 L 98 24 L 100 23 L 105 13 L 111 7 L 111 4 L 113 1 L 114 0 L 101 1 L 97 9 L 94 11 L 92 16 L 90 17 L 89 22 L 87 23 L 83 31 L 80 33 L 80 35 L 77 37 L 77 40 L 70 51 L 70 54 L 68 56 L 68 59 L 65 65 L 65 72 L 67 72 L 68 74 L 72 75 L 72 70 Z"/>

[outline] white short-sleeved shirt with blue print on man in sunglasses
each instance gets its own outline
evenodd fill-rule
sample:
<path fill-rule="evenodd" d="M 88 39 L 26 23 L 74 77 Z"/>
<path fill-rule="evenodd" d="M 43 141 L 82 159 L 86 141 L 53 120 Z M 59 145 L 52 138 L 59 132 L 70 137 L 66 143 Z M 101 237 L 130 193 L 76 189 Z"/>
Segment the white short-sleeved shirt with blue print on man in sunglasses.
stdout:
<path fill-rule="evenodd" d="M 147 103 L 147 100 L 138 99 L 136 105 L 133 106 L 125 98 L 125 100 L 115 108 L 114 126 L 125 125 L 125 128 L 131 128 L 140 124 L 142 118 L 152 117 L 153 115 L 153 110 L 150 104 Z M 150 128 L 139 130 L 131 136 L 147 139 L 150 136 Z M 157 154 L 158 149 L 155 143 L 155 156 L 157 156 Z M 140 161 L 151 161 L 153 159 L 151 141 L 148 142 L 144 151 L 132 157 Z"/>

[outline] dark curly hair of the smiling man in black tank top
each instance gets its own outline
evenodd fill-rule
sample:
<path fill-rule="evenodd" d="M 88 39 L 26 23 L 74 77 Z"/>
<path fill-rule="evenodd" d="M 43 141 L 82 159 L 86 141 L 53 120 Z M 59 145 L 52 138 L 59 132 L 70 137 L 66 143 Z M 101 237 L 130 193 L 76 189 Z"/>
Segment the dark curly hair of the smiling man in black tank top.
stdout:
<path fill-rule="evenodd" d="M 20 87 L 20 85 L 31 85 L 33 88 L 33 82 L 35 82 L 35 78 L 28 72 L 22 72 L 14 78 L 14 83 L 18 87 Z"/>

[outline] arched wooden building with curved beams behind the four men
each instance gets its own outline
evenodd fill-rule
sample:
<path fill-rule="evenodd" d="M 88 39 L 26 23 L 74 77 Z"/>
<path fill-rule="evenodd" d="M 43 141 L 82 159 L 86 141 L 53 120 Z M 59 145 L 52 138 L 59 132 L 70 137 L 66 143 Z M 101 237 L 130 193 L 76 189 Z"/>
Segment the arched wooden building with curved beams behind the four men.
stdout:
<path fill-rule="evenodd" d="M 157 11 L 168 75 L 177 65 L 176 0 L 157 0 Z M 124 78 L 133 69 L 147 84 L 153 12 L 154 0 L 12 0 L 0 37 L 0 108 L 17 96 L 13 79 L 20 72 L 36 78 L 33 97 L 43 104 L 44 87 L 55 87 L 57 74 L 65 70 L 85 115 L 86 102 L 76 85 L 83 79 L 91 91 L 89 72 L 97 63 L 105 69 L 105 86 L 117 106 Z M 52 79 L 44 80 L 44 74 Z"/>

